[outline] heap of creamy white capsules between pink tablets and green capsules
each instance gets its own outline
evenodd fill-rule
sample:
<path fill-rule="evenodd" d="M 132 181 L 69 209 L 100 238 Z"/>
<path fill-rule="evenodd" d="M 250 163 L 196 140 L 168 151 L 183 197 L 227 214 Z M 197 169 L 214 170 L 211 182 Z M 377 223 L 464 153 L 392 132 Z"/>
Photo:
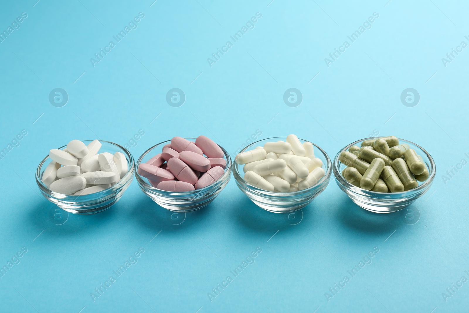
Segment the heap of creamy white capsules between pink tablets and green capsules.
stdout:
<path fill-rule="evenodd" d="M 314 145 L 300 142 L 295 135 L 287 141 L 267 142 L 263 147 L 238 153 L 244 164 L 244 180 L 267 191 L 293 192 L 310 188 L 324 177 L 320 159 L 314 157 Z"/>

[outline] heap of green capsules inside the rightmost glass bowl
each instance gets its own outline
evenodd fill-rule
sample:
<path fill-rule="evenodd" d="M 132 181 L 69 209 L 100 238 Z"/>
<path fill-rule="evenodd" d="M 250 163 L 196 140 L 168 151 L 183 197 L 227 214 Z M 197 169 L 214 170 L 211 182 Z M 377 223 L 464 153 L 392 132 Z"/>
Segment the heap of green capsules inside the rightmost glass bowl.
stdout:
<path fill-rule="evenodd" d="M 401 192 L 418 187 L 430 175 L 423 158 L 394 136 L 364 140 L 340 153 L 342 176 L 351 184 L 377 192 Z"/>

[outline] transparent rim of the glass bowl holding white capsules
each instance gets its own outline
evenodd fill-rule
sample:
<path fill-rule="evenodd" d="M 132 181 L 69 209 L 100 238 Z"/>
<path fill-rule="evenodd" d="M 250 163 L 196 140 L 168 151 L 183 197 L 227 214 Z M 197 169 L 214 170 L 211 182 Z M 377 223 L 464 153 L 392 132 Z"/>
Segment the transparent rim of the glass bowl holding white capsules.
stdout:
<path fill-rule="evenodd" d="M 265 141 L 265 140 L 275 140 L 275 141 L 278 141 L 278 140 L 282 140 L 282 139 L 286 139 L 287 137 L 270 137 L 270 138 L 265 138 L 265 139 L 261 139 L 261 140 L 257 140 L 256 142 L 253 142 L 252 144 L 246 146 L 244 149 L 242 149 L 239 153 L 243 153 L 245 152 L 248 148 L 252 147 L 253 145 L 256 145 L 258 142 L 261 142 L 261 141 Z M 329 156 L 327 155 L 327 153 L 321 148 L 319 147 L 318 145 L 314 144 L 313 142 L 309 141 L 309 140 L 306 140 L 306 139 L 303 139 L 303 138 L 298 138 L 300 140 L 303 140 L 303 141 L 308 141 L 310 142 L 312 145 L 314 145 L 314 149 L 318 149 L 319 151 L 321 151 L 321 153 L 325 156 L 325 159 L 326 159 L 326 169 L 325 169 L 325 175 L 318 181 L 318 183 L 316 183 L 314 186 L 311 186 L 310 188 L 306 188 L 306 189 L 303 189 L 303 190 L 300 190 L 300 191 L 292 191 L 292 192 L 277 192 L 277 191 L 267 191 L 267 190 L 264 190 L 264 189 L 260 189 L 260 188 L 257 188 L 253 185 L 251 185 L 250 183 L 247 183 L 244 178 L 241 177 L 241 174 L 239 173 L 239 170 L 238 170 L 238 167 L 237 167 L 237 164 L 234 164 L 233 163 L 233 176 L 234 176 L 234 179 L 236 180 L 236 182 L 241 185 L 244 189 L 247 189 L 249 188 L 250 191 L 253 191 L 253 192 L 256 192 L 258 193 L 259 195 L 262 195 L 262 196 L 271 196 L 271 197 L 294 197 L 294 196 L 300 196 L 304 193 L 307 193 L 309 191 L 313 191 L 316 189 L 317 186 L 320 186 L 322 185 L 325 181 L 328 181 L 330 176 L 331 176 L 331 173 L 332 173 L 332 163 L 331 163 L 331 159 L 329 158 Z"/>

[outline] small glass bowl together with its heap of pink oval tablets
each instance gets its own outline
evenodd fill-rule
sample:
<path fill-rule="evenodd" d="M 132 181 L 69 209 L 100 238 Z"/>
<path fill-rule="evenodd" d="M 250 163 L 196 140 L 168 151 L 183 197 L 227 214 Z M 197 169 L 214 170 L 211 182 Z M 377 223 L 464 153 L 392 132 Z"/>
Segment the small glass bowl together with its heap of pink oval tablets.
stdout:
<path fill-rule="evenodd" d="M 231 176 L 229 153 L 210 138 L 174 137 L 145 151 L 136 163 L 140 189 L 167 210 L 189 212 L 210 204 Z"/>

